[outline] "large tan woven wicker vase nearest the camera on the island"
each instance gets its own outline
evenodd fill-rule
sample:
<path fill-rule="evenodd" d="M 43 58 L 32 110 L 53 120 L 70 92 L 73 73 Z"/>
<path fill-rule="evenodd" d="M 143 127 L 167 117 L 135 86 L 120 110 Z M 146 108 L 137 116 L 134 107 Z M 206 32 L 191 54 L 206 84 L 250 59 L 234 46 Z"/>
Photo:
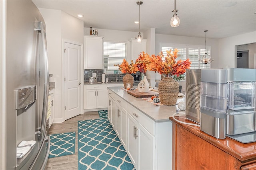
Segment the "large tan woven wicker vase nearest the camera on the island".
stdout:
<path fill-rule="evenodd" d="M 173 78 L 165 77 L 158 84 L 158 92 L 162 104 L 174 106 L 178 99 L 179 84 Z"/>

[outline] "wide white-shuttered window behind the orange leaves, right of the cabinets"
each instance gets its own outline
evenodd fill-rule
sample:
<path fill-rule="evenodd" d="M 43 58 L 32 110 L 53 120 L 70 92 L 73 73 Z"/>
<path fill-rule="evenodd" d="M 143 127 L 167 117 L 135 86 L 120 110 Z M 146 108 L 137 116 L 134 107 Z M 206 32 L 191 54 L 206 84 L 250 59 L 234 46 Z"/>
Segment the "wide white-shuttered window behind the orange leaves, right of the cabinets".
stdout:
<path fill-rule="evenodd" d="M 161 45 L 161 49 L 166 56 L 166 50 L 175 49 L 179 50 L 178 55 L 180 55 L 177 59 L 186 60 L 190 59 L 192 62 L 190 65 L 190 69 L 198 69 L 198 68 L 210 68 L 210 64 L 200 63 L 199 59 L 205 53 L 204 47 L 195 46 L 195 45 L 172 45 L 172 44 L 164 44 Z M 210 54 L 210 46 L 207 47 L 206 50 L 208 54 Z"/>

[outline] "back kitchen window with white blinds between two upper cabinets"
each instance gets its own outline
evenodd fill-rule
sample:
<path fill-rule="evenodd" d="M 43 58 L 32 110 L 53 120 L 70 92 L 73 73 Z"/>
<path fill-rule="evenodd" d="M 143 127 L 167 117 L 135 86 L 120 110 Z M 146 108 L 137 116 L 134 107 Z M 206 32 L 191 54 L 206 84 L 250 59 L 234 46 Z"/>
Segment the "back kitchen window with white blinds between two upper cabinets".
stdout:
<path fill-rule="evenodd" d="M 118 70 L 114 64 L 121 64 L 127 57 L 127 44 L 116 42 L 103 43 L 104 68 L 107 72 Z"/>

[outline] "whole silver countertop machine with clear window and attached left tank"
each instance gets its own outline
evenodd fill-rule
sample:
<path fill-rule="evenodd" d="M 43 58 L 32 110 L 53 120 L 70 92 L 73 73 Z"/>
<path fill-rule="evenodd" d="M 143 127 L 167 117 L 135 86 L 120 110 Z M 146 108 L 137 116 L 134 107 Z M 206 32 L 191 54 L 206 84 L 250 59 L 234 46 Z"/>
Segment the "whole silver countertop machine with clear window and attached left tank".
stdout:
<path fill-rule="evenodd" d="M 256 131 L 255 92 L 255 69 L 202 70 L 200 129 L 219 139 L 238 135 L 248 143 L 248 133 Z"/>

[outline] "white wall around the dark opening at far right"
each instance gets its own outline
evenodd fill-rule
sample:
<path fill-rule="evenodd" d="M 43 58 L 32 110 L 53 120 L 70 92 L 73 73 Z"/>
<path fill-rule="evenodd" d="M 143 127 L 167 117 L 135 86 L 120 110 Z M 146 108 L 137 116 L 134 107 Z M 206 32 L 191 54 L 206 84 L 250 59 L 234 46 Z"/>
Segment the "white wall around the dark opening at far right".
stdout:
<path fill-rule="evenodd" d="M 219 39 L 219 68 L 235 68 L 236 45 L 256 42 L 256 31 Z"/>

